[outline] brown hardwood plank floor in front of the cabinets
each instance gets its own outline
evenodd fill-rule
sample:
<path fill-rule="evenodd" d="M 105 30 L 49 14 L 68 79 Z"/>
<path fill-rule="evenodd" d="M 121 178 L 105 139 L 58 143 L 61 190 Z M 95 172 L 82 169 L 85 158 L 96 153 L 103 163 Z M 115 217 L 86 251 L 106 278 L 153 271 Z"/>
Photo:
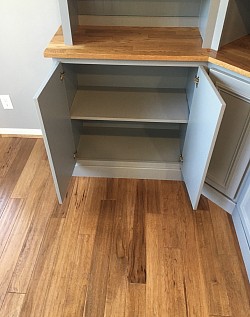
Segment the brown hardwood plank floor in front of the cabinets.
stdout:
<path fill-rule="evenodd" d="M 0 137 L 0 317 L 250 316 L 231 217 L 182 182 L 72 178 L 42 139 Z"/>

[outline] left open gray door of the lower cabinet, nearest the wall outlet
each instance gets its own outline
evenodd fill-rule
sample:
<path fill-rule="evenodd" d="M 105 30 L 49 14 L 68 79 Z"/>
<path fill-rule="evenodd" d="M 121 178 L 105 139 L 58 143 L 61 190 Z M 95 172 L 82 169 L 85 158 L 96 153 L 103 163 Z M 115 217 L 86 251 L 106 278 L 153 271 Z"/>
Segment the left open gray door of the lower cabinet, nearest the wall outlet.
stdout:
<path fill-rule="evenodd" d="M 75 145 L 62 65 L 56 63 L 34 97 L 59 203 L 62 203 L 75 166 Z"/>

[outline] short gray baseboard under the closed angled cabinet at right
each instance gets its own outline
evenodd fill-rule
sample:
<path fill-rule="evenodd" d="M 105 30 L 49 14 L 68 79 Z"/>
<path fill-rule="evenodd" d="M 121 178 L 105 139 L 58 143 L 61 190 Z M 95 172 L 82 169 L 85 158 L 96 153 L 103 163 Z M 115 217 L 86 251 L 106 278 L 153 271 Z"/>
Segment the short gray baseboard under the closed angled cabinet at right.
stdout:
<path fill-rule="evenodd" d="M 235 203 L 206 183 L 203 186 L 202 194 L 210 199 L 212 202 L 214 202 L 216 205 L 226 210 L 229 214 L 233 213 Z"/>

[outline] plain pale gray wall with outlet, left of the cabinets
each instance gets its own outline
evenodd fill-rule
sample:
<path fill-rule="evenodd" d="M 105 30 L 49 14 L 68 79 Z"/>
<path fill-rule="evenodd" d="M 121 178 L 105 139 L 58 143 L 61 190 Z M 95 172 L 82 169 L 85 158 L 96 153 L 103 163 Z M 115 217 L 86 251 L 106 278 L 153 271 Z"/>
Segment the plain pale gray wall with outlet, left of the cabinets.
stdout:
<path fill-rule="evenodd" d="M 0 0 L 0 95 L 14 106 L 0 102 L 0 131 L 40 129 L 33 96 L 51 68 L 43 51 L 60 24 L 58 0 Z"/>

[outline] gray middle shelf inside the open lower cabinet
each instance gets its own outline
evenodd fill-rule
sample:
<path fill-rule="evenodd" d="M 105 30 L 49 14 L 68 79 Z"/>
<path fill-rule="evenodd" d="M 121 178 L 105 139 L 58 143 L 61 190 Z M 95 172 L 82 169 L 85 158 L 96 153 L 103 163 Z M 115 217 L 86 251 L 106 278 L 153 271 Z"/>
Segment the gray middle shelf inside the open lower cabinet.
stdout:
<path fill-rule="evenodd" d="M 186 92 L 167 89 L 78 90 L 71 119 L 135 122 L 188 122 Z"/>

